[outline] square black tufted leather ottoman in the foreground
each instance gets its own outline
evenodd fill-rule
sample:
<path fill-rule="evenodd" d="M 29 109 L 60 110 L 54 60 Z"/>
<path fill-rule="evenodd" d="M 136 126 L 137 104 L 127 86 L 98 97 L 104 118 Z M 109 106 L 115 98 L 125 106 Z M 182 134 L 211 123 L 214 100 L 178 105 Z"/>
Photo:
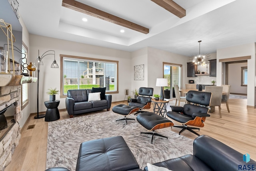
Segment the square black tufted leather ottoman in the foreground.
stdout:
<path fill-rule="evenodd" d="M 133 169 L 141 170 L 122 136 L 86 141 L 80 145 L 76 171 Z"/>

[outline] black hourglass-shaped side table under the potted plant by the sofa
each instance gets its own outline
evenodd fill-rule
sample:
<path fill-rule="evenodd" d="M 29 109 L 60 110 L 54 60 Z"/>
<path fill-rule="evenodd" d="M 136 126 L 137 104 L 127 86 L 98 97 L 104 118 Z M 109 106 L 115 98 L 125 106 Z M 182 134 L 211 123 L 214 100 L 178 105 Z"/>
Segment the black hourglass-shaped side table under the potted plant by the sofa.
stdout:
<path fill-rule="evenodd" d="M 44 121 L 56 121 L 60 119 L 60 112 L 58 109 L 58 105 L 60 104 L 60 100 L 55 101 L 44 101 L 44 105 L 47 107 Z"/>

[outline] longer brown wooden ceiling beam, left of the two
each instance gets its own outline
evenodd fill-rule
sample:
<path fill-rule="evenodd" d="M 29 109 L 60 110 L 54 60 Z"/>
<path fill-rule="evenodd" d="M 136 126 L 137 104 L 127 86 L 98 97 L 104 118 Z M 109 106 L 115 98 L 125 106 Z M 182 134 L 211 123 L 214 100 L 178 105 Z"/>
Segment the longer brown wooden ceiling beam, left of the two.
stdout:
<path fill-rule="evenodd" d="M 62 6 L 66 8 L 70 8 L 72 10 L 76 10 L 78 12 L 82 12 L 84 14 L 100 18 L 102 20 L 112 22 L 114 24 L 118 24 L 120 26 L 124 26 L 126 28 L 130 28 L 132 30 L 136 30 L 138 32 L 148 34 L 149 29 L 133 22 L 129 22 L 128 20 L 124 20 L 107 12 L 98 10 L 81 2 L 77 2 L 75 0 L 62 0 Z"/>

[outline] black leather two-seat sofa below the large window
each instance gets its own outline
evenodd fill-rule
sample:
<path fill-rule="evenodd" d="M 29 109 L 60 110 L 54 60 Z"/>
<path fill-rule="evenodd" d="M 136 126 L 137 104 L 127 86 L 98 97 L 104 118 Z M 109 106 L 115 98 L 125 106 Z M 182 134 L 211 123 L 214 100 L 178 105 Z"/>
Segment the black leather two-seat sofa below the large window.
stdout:
<path fill-rule="evenodd" d="M 107 109 L 110 110 L 112 95 L 106 94 L 105 98 L 97 101 L 88 101 L 92 89 L 70 89 L 66 97 L 66 109 L 70 118 L 73 115 Z"/>

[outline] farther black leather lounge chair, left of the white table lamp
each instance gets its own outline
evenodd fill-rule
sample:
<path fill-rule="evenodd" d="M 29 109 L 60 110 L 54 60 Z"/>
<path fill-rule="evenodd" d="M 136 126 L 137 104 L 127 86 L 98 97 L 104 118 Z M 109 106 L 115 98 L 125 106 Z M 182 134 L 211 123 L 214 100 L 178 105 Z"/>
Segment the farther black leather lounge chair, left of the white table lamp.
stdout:
<path fill-rule="evenodd" d="M 151 99 L 153 95 L 153 88 L 148 87 L 140 87 L 139 88 L 139 96 L 137 99 L 132 99 L 132 101 L 129 103 L 130 106 L 136 106 L 139 108 L 139 111 L 137 111 L 134 115 L 146 111 L 142 111 L 142 109 L 150 109 L 151 105 Z"/>

